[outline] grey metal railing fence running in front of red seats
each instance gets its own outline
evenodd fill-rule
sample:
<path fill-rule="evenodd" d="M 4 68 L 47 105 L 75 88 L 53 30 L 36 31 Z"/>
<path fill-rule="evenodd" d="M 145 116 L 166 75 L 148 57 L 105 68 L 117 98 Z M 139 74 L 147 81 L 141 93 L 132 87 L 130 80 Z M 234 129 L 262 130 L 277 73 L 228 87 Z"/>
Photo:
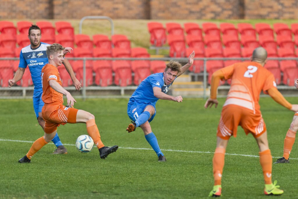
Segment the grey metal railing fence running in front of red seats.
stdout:
<path fill-rule="evenodd" d="M 174 57 L 163 57 L 163 58 L 104 58 L 104 57 L 84 57 L 84 58 L 72 58 L 69 57 L 67 58 L 68 60 L 83 60 L 83 82 L 82 83 L 82 88 L 80 91 L 76 91 L 74 86 L 68 86 L 65 87 L 66 90 L 71 91 L 73 96 L 77 97 L 77 98 L 100 98 L 100 97 L 129 97 L 130 94 L 126 94 L 126 91 L 134 91 L 137 88 L 137 85 L 129 85 L 129 86 L 125 86 L 125 87 L 121 87 L 121 86 L 115 86 L 115 85 L 111 85 L 111 86 L 106 86 L 106 87 L 101 87 L 101 86 L 87 86 L 86 84 L 86 61 L 88 60 L 130 60 L 130 61 L 134 61 L 134 60 L 148 60 L 148 61 L 153 61 L 153 60 L 163 60 L 163 61 L 169 61 L 169 60 L 176 60 L 179 61 L 180 63 L 187 63 L 188 62 L 188 58 L 174 58 Z M 1 60 L 19 60 L 18 58 L 0 58 Z M 195 73 L 190 73 L 190 75 L 193 75 L 194 77 L 196 77 L 197 75 L 201 75 L 203 76 L 203 94 L 201 95 L 197 95 L 195 97 L 203 97 L 203 98 L 207 98 L 207 94 L 206 94 L 206 90 L 208 87 L 207 84 L 207 61 L 209 60 L 249 60 L 249 58 L 244 58 L 244 57 L 229 57 L 229 58 L 223 58 L 223 57 L 213 57 L 213 58 L 195 58 L 194 60 L 201 60 L 204 61 L 204 70 L 202 73 L 199 74 L 195 74 Z M 296 62 L 298 61 L 297 57 L 268 57 L 268 60 L 295 60 Z M 1 69 L 1 64 L 0 64 L 0 70 Z M 298 70 L 298 68 L 297 68 Z M 0 73 L 0 81 L 1 80 L 1 75 L 3 76 L 3 74 Z M 4 74 L 5 75 L 5 74 Z M 3 77 L 2 77 L 3 79 Z M 297 77 L 298 79 L 298 77 Z M 3 84 L 2 82 L 0 82 L 1 85 Z M 32 98 L 32 94 L 33 94 L 33 86 L 27 86 L 27 87 L 23 87 L 23 86 L 18 86 L 15 85 L 11 88 L 8 87 L 0 87 L 0 99 L 14 99 L 14 98 Z M 220 88 L 224 88 L 224 89 L 228 89 L 229 85 L 226 86 L 220 86 Z M 294 89 L 294 82 L 292 85 L 278 85 L 279 89 L 288 89 L 288 90 L 292 90 Z M 98 92 L 96 91 L 101 91 L 101 94 L 98 94 Z M 115 92 L 116 91 L 116 92 Z M 116 94 L 115 94 L 116 93 Z M 117 94 L 118 93 L 118 94 Z M 100 96 L 99 96 L 100 95 Z"/>

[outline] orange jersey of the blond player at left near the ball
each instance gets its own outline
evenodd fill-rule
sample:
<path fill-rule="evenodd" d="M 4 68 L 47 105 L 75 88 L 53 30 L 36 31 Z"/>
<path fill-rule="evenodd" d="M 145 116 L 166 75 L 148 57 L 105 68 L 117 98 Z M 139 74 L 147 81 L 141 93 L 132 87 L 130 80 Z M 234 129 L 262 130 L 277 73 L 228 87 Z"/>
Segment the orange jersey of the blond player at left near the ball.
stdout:
<path fill-rule="evenodd" d="M 62 86 L 58 69 L 51 64 L 46 64 L 41 69 L 41 83 L 43 91 L 41 97 L 42 101 L 44 101 L 45 104 L 49 104 L 52 102 L 60 102 L 61 104 L 63 104 L 63 94 L 55 91 L 49 85 L 49 80 L 55 80 Z"/>

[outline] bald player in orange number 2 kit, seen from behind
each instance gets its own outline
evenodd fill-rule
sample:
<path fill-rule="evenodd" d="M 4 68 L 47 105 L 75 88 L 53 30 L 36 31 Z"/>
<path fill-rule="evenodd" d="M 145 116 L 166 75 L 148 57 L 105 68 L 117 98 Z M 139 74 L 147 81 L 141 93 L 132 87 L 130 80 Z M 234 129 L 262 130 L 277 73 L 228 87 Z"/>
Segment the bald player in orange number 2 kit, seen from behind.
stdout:
<path fill-rule="evenodd" d="M 291 105 L 276 88 L 273 74 L 263 66 L 267 52 L 264 48 L 254 49 L 252 61 L 235 63 L 215 71 L 211 79 L 210 98 L 205 108 L 218 105 L 216 91 L 221 79 L 232 79 L 226 102 L 223 105 L 221 119 L 217 129 L 217 144 L 213 156 L 214 186 L 209 196 L 221 196 L 221 177 L 224 168 L 226 146 L 231 136 L 236 137 L 240 125 L 246 134 L 252 133 L 260 149 L 260 164 L 265 180 L 265 195 L 281 195 L 276 181 L 272 184 L 272 156 L 268 146 L 266 125 L 260 111 L 259 98 L 263 90 L 284 107 L 298 111 L 298 105 Z"/>

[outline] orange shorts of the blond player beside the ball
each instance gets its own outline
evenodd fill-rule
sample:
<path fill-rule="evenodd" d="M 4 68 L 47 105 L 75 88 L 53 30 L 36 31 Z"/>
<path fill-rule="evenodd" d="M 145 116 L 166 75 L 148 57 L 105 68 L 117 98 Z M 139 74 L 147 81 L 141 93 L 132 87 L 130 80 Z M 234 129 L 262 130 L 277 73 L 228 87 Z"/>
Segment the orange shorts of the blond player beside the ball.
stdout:
<path fill-rule="evenodd" d="M 75 124 L 77 111 L 78 109 L 76 108 L 66 108 L 60 102 L 45 104 L 41 111 L 42 117 L 45 121 L 44 131 L 46 133 L 53 133 L 57 130 L 57 127 L 60 126 L 60 124 Z"/>

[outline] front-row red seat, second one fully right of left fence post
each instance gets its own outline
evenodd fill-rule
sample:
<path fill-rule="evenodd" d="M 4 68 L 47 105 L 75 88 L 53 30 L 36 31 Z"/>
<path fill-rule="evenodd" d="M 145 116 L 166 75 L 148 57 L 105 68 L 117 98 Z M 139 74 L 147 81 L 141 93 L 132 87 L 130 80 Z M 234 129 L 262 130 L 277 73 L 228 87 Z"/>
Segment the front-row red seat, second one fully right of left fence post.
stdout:
<path fill-rule="evenodd" d="M 126 60 L 115 60 L 112 63 L 115 72 L 114 83 L 119 86 L 127 86 L 132 83 L 132 74 L 130 63 Z"/>

